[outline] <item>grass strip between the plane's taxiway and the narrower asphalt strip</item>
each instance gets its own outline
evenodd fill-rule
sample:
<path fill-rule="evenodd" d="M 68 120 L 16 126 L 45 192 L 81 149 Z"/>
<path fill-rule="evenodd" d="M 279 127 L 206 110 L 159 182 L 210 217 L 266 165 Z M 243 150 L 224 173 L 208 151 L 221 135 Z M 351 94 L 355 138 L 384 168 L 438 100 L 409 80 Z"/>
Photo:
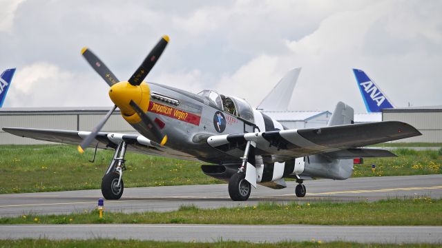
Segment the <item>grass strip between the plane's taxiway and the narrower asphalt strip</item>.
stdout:
<path fill-rule="evenodd" d="M 238 224 L 238 225 L 442 225 L 442 199 L 427 197 L 379 200 L 373 203 L 260 203 L 258 206 L 177 211 L 115 213 L 97 210 L 67 215 L 28 214 L 0 218 L 0 224 Z"/>

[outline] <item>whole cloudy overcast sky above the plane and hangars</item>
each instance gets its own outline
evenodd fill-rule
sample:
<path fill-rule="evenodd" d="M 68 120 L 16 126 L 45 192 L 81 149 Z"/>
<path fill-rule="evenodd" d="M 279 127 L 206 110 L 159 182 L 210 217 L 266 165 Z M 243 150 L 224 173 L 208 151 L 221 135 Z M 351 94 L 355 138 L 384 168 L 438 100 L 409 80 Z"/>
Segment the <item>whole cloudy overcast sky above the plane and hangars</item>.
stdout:
<path fill-rule="evenodd" d="M 442 105 L 442 1 L 0 1 L 3 107 L 108 106 L 88 46 L 127 80 L 163 34 L 148 81 L 204 88 L 256 106 L 302 67 L 289 110 L 365 112 L 352 68 L 396 107 Z"/>

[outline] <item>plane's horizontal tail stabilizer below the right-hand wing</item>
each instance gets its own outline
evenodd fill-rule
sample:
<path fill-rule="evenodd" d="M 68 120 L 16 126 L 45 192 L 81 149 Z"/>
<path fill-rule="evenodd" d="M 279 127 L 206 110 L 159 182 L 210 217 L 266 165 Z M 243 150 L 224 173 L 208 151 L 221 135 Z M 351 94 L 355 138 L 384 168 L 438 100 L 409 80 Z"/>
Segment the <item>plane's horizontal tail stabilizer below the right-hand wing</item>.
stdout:
<path fill-rule="evenodd" d="M 347 158 L 376 158 L 376 157 L 394 157 L 396 154 L 386 149 L 372 149 L 372 148 L 350 148 L 338 152 L 329 152 L 324 154 L 330 158 L 347 159 Z"/>

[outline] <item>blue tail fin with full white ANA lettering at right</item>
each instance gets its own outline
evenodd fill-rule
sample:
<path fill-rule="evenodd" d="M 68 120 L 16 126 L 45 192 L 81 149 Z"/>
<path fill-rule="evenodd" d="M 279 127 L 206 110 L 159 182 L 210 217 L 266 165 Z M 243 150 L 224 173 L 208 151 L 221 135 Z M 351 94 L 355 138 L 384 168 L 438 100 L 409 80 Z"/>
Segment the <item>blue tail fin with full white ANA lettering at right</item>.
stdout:
<path fill-rule="evenodd" d="M 363 70 L 353 69 L 367 112 L 382 112 L 385 108 L 394 108 L 392 102 Z"/>

